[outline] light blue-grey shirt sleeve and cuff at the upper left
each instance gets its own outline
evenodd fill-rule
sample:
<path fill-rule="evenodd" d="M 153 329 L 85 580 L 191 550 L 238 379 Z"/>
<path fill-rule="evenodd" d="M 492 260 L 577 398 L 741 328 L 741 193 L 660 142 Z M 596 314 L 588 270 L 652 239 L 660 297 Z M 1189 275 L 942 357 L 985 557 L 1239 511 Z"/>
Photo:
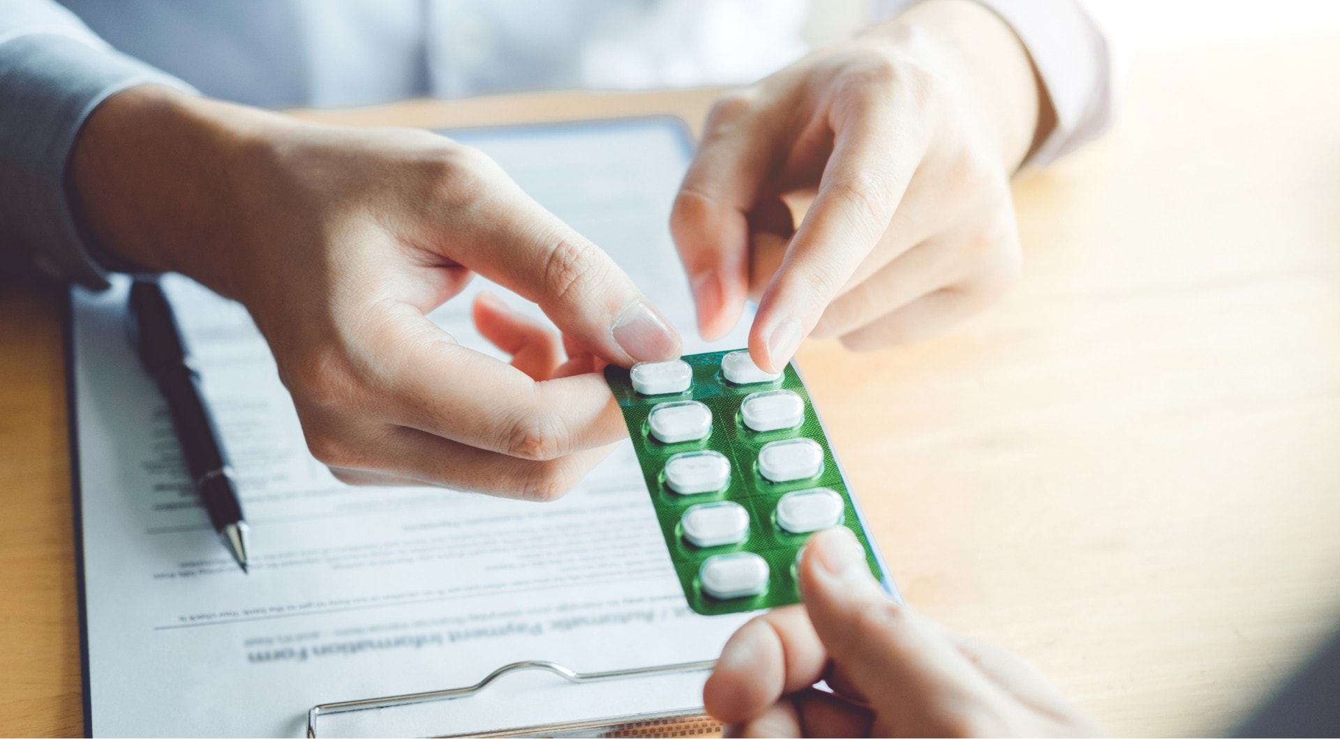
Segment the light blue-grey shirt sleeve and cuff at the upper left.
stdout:
<path fill-rule="evenodd" d="M 117 52 L 50 0 L 0 0 L 0 254 L 92 288 L 123 268 L 83 236 L 70 153 L 99 103 L 137 84 L 190 90 Z"/>

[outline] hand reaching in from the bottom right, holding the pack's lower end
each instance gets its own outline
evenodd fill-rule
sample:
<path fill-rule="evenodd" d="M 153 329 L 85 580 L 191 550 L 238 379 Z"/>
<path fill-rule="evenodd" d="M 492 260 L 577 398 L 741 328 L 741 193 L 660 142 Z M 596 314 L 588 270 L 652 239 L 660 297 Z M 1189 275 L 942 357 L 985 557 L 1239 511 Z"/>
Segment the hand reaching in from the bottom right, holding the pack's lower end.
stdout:
<path fill-rule="evenodd" d="M 741 627 L 704 688 L 708 712 L 733 735 L 1101 734 L 1018 659 L 890 600 L 850 530 L 815 534 L 800 578 L 804 610 Z M 811 687 L 819 680 L 833 692 Z"/>

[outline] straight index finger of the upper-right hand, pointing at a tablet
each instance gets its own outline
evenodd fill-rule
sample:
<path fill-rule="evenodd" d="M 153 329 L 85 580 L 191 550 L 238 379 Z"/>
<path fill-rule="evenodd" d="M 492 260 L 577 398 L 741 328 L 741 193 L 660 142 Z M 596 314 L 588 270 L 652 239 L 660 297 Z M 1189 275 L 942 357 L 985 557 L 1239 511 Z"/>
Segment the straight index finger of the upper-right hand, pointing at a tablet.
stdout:
<path fill-rule="evenodd" d="M 791 360 L 879 242 L 925 153 L 921 126 L 894 104 L 847 107 L 833 114 L 833 150 L 819 194 L 758 301 L 749 353 L 765 371 Z"/>

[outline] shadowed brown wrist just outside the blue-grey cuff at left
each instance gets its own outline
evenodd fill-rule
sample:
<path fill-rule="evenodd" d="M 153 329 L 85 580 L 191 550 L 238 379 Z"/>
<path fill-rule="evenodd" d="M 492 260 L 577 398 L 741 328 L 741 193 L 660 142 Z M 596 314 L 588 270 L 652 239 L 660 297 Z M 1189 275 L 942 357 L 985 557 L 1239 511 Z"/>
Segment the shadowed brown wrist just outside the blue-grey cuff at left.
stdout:
<path fill-rule="evenodd" d="M 72 205 L 88 236 L 135 266 L 233 295 L 239 154 L 271 118 L 157 86 L 109 98 L 71 154 Z"/>

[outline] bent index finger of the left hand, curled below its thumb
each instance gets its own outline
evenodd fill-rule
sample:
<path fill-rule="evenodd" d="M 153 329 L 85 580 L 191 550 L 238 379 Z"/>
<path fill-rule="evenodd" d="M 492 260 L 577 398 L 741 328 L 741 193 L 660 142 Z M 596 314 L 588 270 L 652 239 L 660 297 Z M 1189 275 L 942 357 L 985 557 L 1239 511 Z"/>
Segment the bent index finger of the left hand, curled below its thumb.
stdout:
<path fill-rule="evenodd" d="M 393 311 L 402 323 L 379 332 L 373 380 L 387 388 L 386 420 L 523 459 L 555 459 L 627 434 L 599 375 L 536 382 L 461 347 L 410 305 Z"/>

